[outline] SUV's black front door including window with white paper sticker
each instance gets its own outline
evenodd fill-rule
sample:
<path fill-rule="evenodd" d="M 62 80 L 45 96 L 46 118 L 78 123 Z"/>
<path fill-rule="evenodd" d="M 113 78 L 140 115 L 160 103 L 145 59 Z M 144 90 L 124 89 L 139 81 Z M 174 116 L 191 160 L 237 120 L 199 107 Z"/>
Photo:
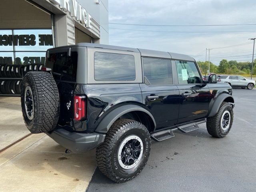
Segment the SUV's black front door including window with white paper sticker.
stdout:
<path fill-rule="evenodd" d="M 178 123 L 204 118 L 208 113 L 210 90 L 203 83 L 195 62 L 176 60 L 180 108 Z"/>

